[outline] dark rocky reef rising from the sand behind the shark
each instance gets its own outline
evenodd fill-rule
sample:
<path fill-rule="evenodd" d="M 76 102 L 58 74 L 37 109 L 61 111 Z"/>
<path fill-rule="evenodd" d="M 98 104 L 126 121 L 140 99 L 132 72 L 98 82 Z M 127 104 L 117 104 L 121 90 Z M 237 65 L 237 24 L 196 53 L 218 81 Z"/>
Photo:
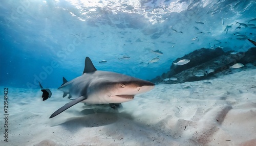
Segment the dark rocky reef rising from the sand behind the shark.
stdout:
<path fill-rule="evenodd" d="M 224 52 L 220 47 L 214 50 L 201 48 L 174 61 L 189 59 L 190 62 L 187 64 L 175 65 L 173 62 L 170 71 L 157 76 L 151 81 L 156 84 L 193 82 L 230 74 L 230 66 L 236 63 L 244 65 L 251 63 L 256 66 L 256 47 L 249 48 L 247 52 L 238 52 L 237 54 L 231 54 L 231 52 L 233 51 Z M 166 78 L 177 78 L 177 80 L 163 81 Z"/>

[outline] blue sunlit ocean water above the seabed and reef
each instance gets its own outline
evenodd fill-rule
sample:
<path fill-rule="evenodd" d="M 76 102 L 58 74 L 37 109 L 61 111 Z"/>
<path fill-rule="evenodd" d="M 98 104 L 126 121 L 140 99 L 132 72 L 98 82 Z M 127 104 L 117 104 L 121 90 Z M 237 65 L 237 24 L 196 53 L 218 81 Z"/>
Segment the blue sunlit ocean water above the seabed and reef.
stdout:
<path fill-rule="evenodd" d="M 4 0 L 0 86 L 57 88 L 82 74 L 87 56 L 98 70 L 153 79 L 202 47 L 247 51 L 255 11 L 255 1 Z"/>

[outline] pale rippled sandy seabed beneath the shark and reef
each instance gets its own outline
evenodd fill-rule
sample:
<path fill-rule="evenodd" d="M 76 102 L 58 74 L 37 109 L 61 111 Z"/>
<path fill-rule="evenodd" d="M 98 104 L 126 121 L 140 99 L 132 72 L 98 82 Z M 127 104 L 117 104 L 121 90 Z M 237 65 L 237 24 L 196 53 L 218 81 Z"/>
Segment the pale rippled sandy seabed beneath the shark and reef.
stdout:
<path fill-rule="evenodd" d="M 4 114 L 1 87 L 1 111 Z M 8 142 L 4 145 L 256 145 L 256 69 L 213 80 L 157 85 L 114 110 L 77 104 L 52 90 L 8 87 Z"/>

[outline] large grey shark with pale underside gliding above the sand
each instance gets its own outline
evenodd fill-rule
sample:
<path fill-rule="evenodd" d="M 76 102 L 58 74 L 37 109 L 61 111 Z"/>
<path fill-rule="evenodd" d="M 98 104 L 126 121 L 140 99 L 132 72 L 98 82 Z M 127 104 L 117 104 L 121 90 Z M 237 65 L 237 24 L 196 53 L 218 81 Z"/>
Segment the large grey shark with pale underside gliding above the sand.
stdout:
<path fill-rule="evenodd" d="M 63 91 L 63 97 L 69 94 L 68 98 L 72 101 L 56 110 L 49 118 L 77 103 L 109 104 L 112 108 L 117 108 L 119 104 L 133 100 L 136 94 L 150 91 L 154 87 L 155 84 L 150 81 L 117 72 L 97 70 L 91 59 L 86 57 L 83 74 L 71 81 L 63 77 L 63 84 L 58 88 Z"/>

